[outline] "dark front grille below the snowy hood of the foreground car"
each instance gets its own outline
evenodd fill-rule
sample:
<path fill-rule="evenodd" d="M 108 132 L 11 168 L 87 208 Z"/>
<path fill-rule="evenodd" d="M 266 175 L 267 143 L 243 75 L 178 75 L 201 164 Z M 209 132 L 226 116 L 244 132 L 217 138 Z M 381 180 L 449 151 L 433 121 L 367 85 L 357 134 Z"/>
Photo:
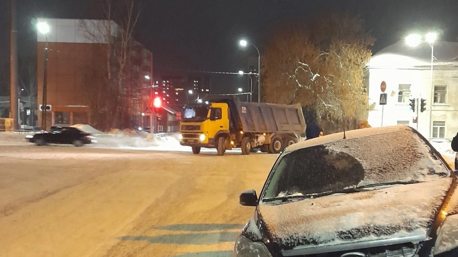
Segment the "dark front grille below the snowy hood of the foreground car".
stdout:
<path fill-rule="evenodd" d="M 419 245 L 404 243 L 391 246 L 378 246 L 343 252 L 326 252 L 297 257 L 414 257 L 418 256 Z M 350 254 L 353 253 L 353 254 Z"/>

